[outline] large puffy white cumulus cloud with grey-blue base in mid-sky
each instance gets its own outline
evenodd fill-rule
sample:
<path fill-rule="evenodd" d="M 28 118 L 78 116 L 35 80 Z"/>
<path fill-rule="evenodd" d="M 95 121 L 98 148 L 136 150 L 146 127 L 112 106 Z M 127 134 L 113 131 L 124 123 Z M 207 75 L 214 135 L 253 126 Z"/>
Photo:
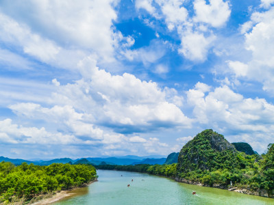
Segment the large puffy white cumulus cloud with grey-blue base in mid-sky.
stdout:
<path fill-rule="evenodd" d="M 112 75 L 90 61 L 92 59 L 82 62 L 84 67 L 93 65 L 89 68 L 90 79 L 60 85 L 53 94 L 54 103 L 92 113 L 97 123 L 116 128 L 117 132 L 190 126 L 191 120 L 172 103 L 172 98 L 177 98 L 175 93 L 167 96 L 157 83 L 140 81 L 127 73 Z"/>

